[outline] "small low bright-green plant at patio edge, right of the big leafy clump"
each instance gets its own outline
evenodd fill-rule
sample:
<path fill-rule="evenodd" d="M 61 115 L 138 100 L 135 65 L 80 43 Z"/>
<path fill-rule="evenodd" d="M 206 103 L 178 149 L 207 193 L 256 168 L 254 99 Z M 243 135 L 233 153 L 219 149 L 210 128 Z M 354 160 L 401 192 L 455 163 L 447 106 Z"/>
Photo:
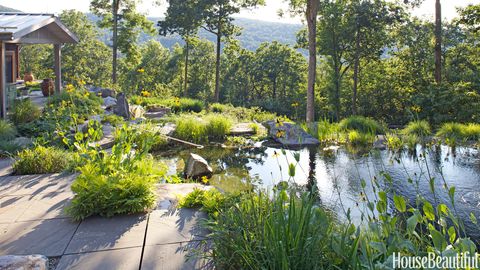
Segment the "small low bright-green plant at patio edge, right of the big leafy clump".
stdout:
<path fill-rule="evenodd" d="M 180 198 L 178 206 L 182 208 L 200 208 L 212 217 L 218 216 L 218 211 L 225 203 L 225 196 L 217 189 L 208 190 L 194 188 L 185 197 Z"/>

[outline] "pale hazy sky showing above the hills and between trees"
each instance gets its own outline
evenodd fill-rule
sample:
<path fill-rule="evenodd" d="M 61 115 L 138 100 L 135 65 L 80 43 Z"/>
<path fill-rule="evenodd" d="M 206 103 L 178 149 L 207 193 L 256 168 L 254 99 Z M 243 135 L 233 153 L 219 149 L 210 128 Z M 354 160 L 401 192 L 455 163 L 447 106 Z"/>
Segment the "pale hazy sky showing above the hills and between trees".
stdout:
<path fill-rule="evenodd" d="M 143 0 L 140 10 L 150 16 L 163 16 L 165 7 L 154 6 L 152 0 Z M 287 5 L 283 0 L 266 0 L 267 5 L 255 10 L 244 10 L 239 17 L 259 19 L 275 22 L 300 22 L 299 18 L 279 18 L 277 13 L 280 9 L 286 9 Z M 478 4 L 480 0 L 442 0 L 442 17 L 448 20 L 456 16 L 455 7 L 464 7 L 468 4 Z M 90 0 L 0 0 L 0 5 L 19 9 L 25 12 L 59 13 L 64 9 L 77 9 L 88 11 Z M 414 14 L 427 19 L 433 18 L 435 0 L 425 0 Z"/>

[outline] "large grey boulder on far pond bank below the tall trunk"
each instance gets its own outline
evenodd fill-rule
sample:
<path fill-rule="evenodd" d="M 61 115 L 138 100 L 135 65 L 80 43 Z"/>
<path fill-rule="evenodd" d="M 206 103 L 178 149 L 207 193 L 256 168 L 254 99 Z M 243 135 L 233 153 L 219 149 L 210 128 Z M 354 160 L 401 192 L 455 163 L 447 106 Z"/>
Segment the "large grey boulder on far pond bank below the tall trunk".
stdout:
<path fill-rule="evenodd" d="M 294 123 L 267 121 L 268 135 L 285 146 L 319 145 L 320 142 Z"/>

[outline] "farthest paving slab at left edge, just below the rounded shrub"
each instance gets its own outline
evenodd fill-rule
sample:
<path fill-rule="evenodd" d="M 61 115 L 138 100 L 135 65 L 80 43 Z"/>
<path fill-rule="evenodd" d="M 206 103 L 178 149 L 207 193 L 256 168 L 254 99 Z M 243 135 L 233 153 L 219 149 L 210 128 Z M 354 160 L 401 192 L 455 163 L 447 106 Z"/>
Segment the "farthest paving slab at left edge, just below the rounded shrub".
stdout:
<path fill-rule="evenodd" d="M 0 197 L 11 195 L 55 194 L 70 192 L 76 174 L 38 174 L 0 177 Z"/>

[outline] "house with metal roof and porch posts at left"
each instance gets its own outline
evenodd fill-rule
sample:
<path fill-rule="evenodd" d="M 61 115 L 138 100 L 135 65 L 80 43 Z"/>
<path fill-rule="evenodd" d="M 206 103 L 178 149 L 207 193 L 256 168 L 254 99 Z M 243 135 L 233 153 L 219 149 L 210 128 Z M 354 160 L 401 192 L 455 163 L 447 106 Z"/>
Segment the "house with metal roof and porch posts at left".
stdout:
<path fill-rule="evenodd" d="M 9 98 L 16 95 L 19 79 L 19 46 L 53 44 L 55 89 L 61 91 L 61 48 L 78 38 L 53 14 L 0 12 L 0 117 L 7 114 Z"/>

